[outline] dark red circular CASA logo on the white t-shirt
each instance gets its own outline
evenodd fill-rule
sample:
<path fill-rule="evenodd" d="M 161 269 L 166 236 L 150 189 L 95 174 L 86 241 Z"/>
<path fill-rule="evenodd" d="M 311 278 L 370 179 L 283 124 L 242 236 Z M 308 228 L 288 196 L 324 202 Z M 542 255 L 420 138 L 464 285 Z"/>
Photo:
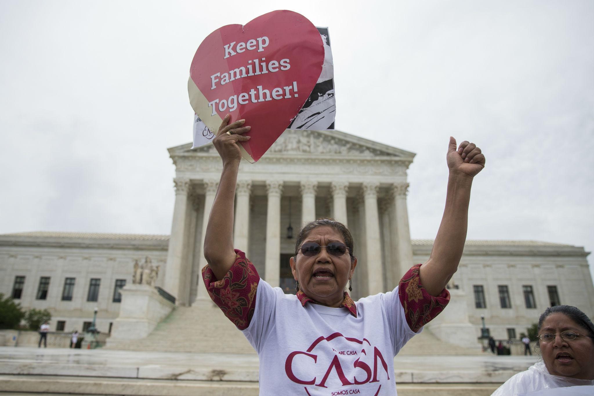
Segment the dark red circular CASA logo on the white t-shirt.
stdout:
<path fill-rule="evenodd" d="M 388 356 L 389 358 L 390 356 Z M 390 379 L 381 351 L 363 338 L 339 332 L 319 337 L 307 350 L 293 351 L 285 360 L 287 378 L 304 385 L 304 394 L 328 389 L 328 395 L 378 395 Z"/>

